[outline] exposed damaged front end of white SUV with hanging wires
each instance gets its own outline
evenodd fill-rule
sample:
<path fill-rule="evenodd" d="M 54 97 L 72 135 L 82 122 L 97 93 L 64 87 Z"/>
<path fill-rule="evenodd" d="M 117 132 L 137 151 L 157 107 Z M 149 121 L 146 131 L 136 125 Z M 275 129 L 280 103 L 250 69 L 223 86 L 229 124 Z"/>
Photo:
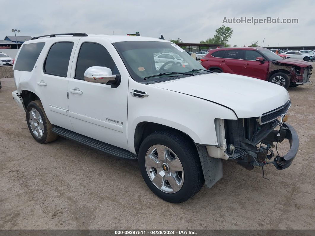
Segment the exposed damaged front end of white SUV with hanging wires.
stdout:
<path fill-rule="evenodd" d="M 236 160 L 248 170 L 254 166 L 274 164 L 278 170 L 288 168 L 295 158 L 299 138 L 293 127 L 285 122 L 291 102 L 259 118 L 225 120 L 225 136 L 229 159 Z M 278 127 L 278 129 L 276 129 Z M 289 140 L 290 150 L 281 157 L 272 148 L 284 139 Z M 272 160 L 273 158 L 273 160 Z"/>

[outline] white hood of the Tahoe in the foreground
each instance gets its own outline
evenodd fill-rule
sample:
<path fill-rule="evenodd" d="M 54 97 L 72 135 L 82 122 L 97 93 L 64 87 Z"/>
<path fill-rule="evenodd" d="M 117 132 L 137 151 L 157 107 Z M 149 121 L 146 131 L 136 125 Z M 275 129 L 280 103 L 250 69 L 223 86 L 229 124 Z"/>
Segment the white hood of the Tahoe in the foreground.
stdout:
<path fill-rule="evenodd" d="M 290 98 L 279 85 L 228 73 L 189 76 L 151 85 L 226 106 L 238 118 L 259 117 L 283 106 Z"/>

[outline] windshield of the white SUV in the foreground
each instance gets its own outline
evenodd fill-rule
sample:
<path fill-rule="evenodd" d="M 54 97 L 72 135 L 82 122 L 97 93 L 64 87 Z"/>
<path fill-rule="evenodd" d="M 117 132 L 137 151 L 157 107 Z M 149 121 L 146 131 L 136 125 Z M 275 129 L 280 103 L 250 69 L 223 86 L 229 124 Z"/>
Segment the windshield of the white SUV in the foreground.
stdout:
<path fill-rule="evenodd" d="M 189 76 L 187 74 L 163 75 L 145 80 L 147 77 L 160 73 L 185 73 L 193 69 L 204 69 L 198 61 L 175 43 L 127 41 L 113 43 L 113 45 L 120 54 L 130 76 L 137 82 L 154 81 L 160 77 L 174 79 Z"/>

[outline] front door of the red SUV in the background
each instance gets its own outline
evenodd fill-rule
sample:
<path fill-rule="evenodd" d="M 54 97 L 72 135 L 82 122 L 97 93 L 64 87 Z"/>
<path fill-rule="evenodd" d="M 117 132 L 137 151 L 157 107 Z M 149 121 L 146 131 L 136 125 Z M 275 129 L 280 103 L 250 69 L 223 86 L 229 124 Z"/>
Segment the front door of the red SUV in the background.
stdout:
<path fill-rule="evenodd" d="M 268 60 L 264 58 L 264 63 L 262 63 L 261 61 L 256 61 L 257 57 L 264 58 L 264 56 L 256 50 L 244 50 L 243 75 L 265 80 Z"/>

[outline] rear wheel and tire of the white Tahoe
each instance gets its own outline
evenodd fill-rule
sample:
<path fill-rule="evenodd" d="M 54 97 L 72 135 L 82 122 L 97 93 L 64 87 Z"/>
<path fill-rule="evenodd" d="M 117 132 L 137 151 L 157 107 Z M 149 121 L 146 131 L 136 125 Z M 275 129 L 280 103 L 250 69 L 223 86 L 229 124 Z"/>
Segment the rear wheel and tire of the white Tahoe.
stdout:
<path fill-rule="evenodd" d="M 33 138 L 39 143 L 55 141 L 58 135 L 52 132 L 53 125 L 49 122 L 41 101 L 31 101 L 26 108 L 26 121 Z"/>

